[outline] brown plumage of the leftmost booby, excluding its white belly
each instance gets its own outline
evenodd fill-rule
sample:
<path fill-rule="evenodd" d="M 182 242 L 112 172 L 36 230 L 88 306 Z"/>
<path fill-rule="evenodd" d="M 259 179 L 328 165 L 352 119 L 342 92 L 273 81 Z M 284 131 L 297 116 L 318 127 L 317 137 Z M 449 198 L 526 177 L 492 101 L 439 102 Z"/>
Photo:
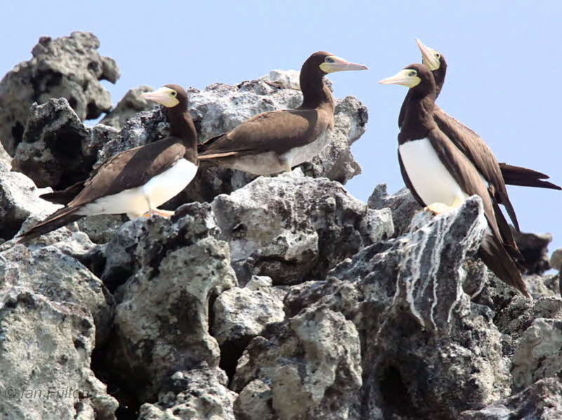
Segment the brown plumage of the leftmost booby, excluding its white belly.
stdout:
<path fill-rule="evenodd" d="M 143 187 L 150 179 L 171 169 L 181 159 L 197 165 L 197 132 L 187 111 L 187 93 L 177 85 L 166 85 L 166 88 L 177 93 L 175 97 L 178 101 L 176 106 L 168 108 L 170 136 L 112 156 L 83 184 L 83 188 L 72 201 L 29 231 L 22 233 L 18 241 L 27 241 L 48 233 L 86 215 L 112 214 L 110 205 L 107 205 L 107 210 L 85 210 L 89 205 L 97 205 L 102 198 L 111 199 L 124 191 Z M 189 181 L 190 179 L 188 183 Z M 65 201 L 68 195 L 79 187 L 81 183 L 74 184 L 58 198 Z M 131 218 L 140 216 L 134 208 L 131 208 L 128 214 Z"/>

